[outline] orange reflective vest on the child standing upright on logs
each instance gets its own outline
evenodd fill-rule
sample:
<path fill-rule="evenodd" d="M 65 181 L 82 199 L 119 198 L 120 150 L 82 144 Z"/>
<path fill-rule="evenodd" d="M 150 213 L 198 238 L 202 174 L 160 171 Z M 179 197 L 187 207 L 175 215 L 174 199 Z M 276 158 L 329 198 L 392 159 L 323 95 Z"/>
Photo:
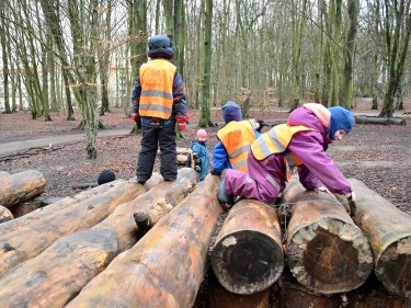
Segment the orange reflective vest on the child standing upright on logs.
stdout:
<path fill-rule="evenodd" d="M 164 59 L 141 65 L 141 95 L 138 113 L 141 116 L 169 118 L 173 109 L 173 82 L 176 67 Z"/>

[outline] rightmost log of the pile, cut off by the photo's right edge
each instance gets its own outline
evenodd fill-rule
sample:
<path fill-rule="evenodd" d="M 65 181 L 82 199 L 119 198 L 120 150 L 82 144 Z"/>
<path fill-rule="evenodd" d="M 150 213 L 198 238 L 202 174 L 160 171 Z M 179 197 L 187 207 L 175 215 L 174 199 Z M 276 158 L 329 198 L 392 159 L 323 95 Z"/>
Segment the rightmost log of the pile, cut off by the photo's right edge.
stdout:
<path fill-rule="evenodd" d="M 411 216 L 363 182 L 350 183 L 357 198 L 354 221 L 373 247 L 377 278 L 390 294 L 411 298 Z"/>

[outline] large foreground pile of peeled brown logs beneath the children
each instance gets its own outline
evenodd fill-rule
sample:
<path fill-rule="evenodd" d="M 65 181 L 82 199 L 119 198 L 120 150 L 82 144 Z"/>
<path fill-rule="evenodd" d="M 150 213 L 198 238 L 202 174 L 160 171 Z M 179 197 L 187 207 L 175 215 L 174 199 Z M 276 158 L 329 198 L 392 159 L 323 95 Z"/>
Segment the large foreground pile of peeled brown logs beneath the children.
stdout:
<path fill-rule="evenodd" d="M 116 180 L 1 223 L 0 307 L 409 307 L 411 217 L 362 182 L 351 218 L 298 180 L 224 214 L 220 178 L 197 181 Z M 357 293 L 375 277 L 386 296 Z"/>

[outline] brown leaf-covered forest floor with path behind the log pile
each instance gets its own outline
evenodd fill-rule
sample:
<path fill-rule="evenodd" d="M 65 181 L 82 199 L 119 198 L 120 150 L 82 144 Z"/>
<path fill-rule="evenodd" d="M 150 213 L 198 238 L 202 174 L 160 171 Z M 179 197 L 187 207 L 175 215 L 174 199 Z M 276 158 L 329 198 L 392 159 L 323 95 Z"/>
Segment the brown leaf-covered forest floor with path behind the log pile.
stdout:
<path fill-rule="evenodd" d="M 411 102 L 408 103 L 411 107 Z M 406 105 L 406 111 L 409 111 Z M 377 115 L 369 105 L 357 104 L 356 115 Z M 190 111 L 191 121 L 184 132 L 186 139 L 178 140 L 178 147 L 189 147 L 198 129 L 198 112 Z M 101 116 L 105 129 L 99 132 L 98 158 L 87 159 L 84 133 L 77 129 L 81 121 L 76 110 L 76 121 L 66 121 L 66 114 L 52 113 L 52 122 L 44 117 L 31 119 L 30 112 L 0 114 L 0 171 L 16 173 L 38 170 L 46 180 L 42 198 L 72 196 L 79 193 L 77 185 L 95 183 L 99 173 L 112 169 L 117 178 L 135 176 L 136 158 L 140 148 L 140 135 L 129 134 L 134 123 L 124 110 L 113 107 Z M 270 124 L 284 123 L 287 109 L 251 111 L 250 117 L 263 118 Z M 396 113 L 407 125 L 355 125 L 342 141 L 330 146 L 328 152 L 347 178 L 363 181 L 368 187 L 389 199 L 398 208 L 411 214 L 411 116 Z M 212 111 L 212 121 L 221 123 L 218 109 Z M 220 127 L 206 128 L 208 149 L 212 152 Z M 264 127 L 263 132 L 269 128 Z M 41 145 L 47 141 L 48 146 Z M 15 148 L 12 148 L 15 147 Z M 8 152 L 8 153 L 5 153 Z M 159 171 L 156 160 L 155 172 Z"/>

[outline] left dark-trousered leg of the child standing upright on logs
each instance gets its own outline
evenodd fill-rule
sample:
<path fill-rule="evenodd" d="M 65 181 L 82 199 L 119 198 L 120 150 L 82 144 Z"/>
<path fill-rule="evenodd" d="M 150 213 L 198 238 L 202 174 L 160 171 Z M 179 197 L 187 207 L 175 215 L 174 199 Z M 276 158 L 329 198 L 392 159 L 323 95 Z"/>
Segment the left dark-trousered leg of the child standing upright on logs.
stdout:
<path fill-rule="evenodd" d="M 141 150 L 137 162 L 137 181 L 147 182 L 152 174 L 158 148 L 158 128 L 142 127 Z"/>

